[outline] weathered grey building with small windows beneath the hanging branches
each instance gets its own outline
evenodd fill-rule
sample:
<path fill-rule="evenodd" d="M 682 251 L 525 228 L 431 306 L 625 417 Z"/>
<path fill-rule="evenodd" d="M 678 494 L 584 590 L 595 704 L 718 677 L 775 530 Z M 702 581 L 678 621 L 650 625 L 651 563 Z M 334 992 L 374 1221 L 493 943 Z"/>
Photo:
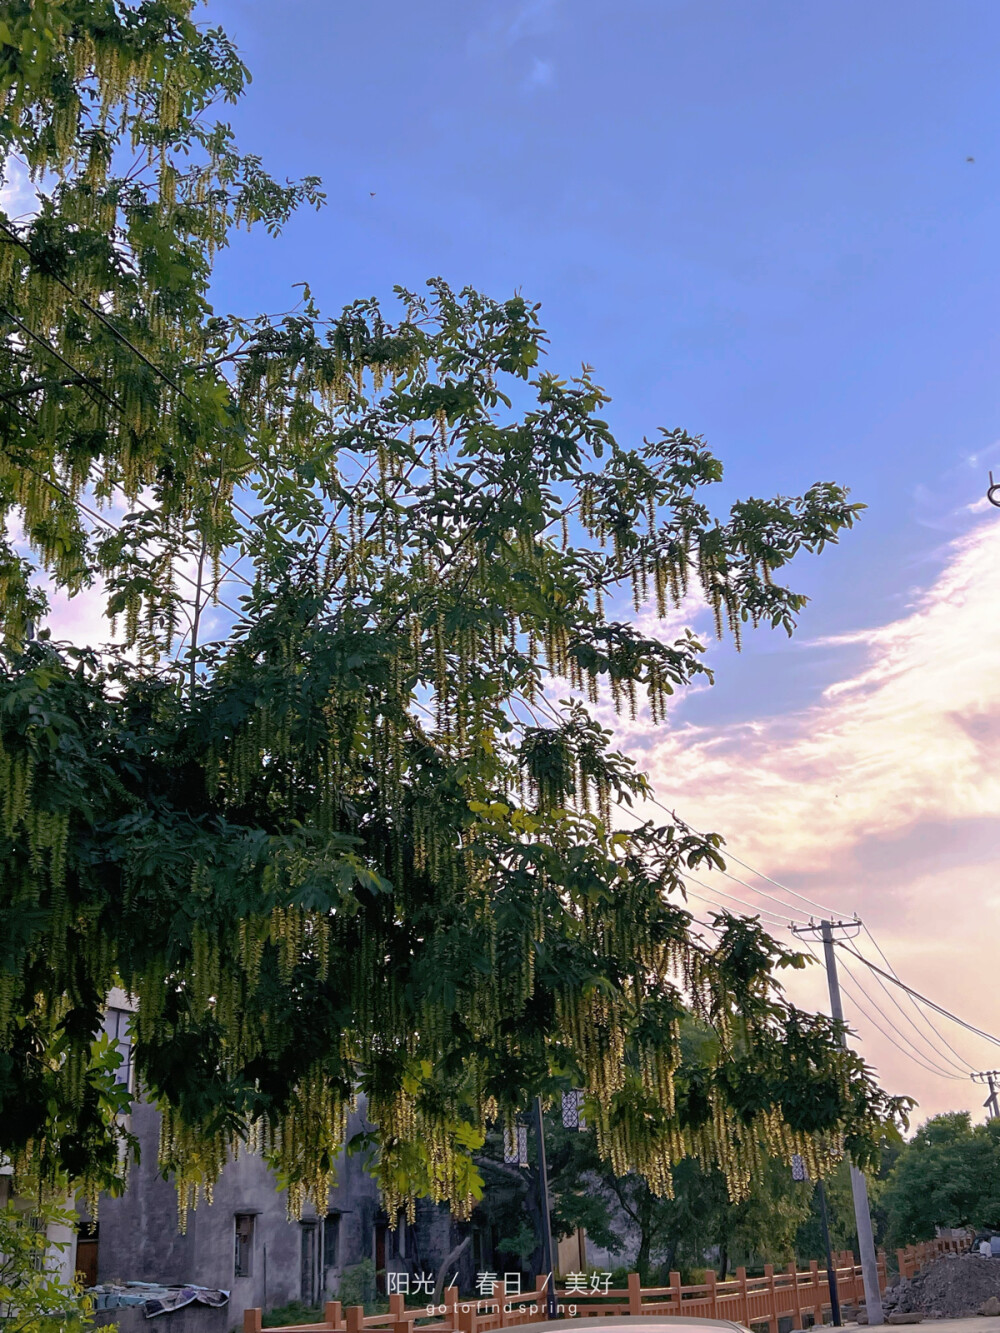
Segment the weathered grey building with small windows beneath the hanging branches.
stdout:
<path fill-rule="evenodd" d="M 119 1077 L 132 1086 L 128 998 L 113 992 L 105 1029 L 123 1056 Z M 348 1121 L 348 1138 L 365 1128 L 364 1109 L 360 1100 Z M 131 1130 L 139 1140 L 139 1161 L 129 1169 L 124 1194 L 101 1198 L 97 1225 L 81 1221 L 76 1268 L 91 1284 L 221 1288 L 231 1293 L 229 1304 L 224 1316 L 212 1312 L 217 1314 L 212 1328 L 239 1326 L 249 1306 L 273 1309 L 289 1301 L 320 1305 L 340 1293 L 347 1270 L 365 1261 L 383 1292 L 389 1284 L 404 1285 L 391 1277 L 393 1273 L 411 1280 L 436 1277 L 468 1232 L 468 1224 L 455 1222 L 447 1209 L 429 1201 L 420 1202 L 413 1225 L 400 1217 L 391 1228 L 364 1156 L 341 1152 L 325 1213 L 307 1205 L 301 1221 L 289 1221 L 285 1194 L 272 1172 L 260 1157 L 241 1153 L 223 1170 L 212 1202 L 201 1201 L 188 1214 L 181 1234 L 175 1188 L 157 1169 L 160 1116 L 141 1096 L 132 1104 Z M 471 1245 L 455 1266 L 461 1285 L 472 1286 Z M 203 1313 L 207 1317 L 209 1312 Z M 205 1320 L 201 1322 L 208 1328 Z M 176 1316 L 168 1324 L 180 1326 Z"/>

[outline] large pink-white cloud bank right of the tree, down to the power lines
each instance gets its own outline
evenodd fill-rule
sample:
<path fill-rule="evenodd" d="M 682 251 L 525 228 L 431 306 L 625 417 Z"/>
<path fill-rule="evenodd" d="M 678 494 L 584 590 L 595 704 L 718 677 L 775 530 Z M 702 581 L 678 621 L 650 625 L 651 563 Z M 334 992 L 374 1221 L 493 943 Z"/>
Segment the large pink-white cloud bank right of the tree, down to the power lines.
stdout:
<path fill-rule="evenodd" d="M 860 668 L 808 708 L 671 732 L 653 729 L 648 718 L 616 728 L 667 806 L 676 806 L 697 828 L 721 832 L 736 856 L 781 884 L 845 914 L 860 912 L 904 980 L 995 1033 L 1000 1033 L 1000 996 L 992 985 L 1000 910 L 997 569 L 1000 519 L 987 517 L 951 544 L 940 575 L 913 596 L 899 620 L 804 648 L 849 647 L 853 661 L 859 647 L 864 653 Z M 739 670 L 739 663 L 729 669 Z M 808 916 L 800 900 L 737 864 L 731 869 L 755 890 L 788 902 L 783 910 L 757 897 L 760 908 Z M 729 880 L 700 877 L 713 890 L 755 898 L 755 892 Z M 905 1041 L 888 1020 L 919 1038 L 872 974 L 857 964 L 852 968 L 857 974 L 844 976 L 845 990 L 851 988 L 848 1021 L 885 1085 L 916 1094 L 921 1114 L 949 1106 L 981 1114 L 981 1097 L 971 1082 L 948 1081 L 896 1049 Z M 789 989 L 800 1002 L 825 1006 L 823 973 L 819 968 L 809 973 Z M 988 1044 L 947 1020 L 935 1022 L 977 1068 L 996 1064 Z M 928 1048 L 921 1049 L 929 1057 Z M 941 1060 L 939 1054 L 936 1062 Z"/>

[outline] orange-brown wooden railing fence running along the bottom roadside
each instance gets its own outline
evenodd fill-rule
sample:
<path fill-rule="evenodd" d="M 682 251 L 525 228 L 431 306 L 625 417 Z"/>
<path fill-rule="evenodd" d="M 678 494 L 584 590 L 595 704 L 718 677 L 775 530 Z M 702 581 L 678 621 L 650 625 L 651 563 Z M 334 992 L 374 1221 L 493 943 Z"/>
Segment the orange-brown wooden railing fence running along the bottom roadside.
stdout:
<path fill-rule="evenodd" d="M 927 1241 L 897 1250 L 900 1273 L 913 1273 L 939 1254 L 963 1248 L 961 1241 Z M 843 1305 L 856 1305 L 864 1300 L 861 1265 L 849 1250 L 833 1256 L 837 1293 Z M 747 1328 L 767 1325 L 768 1333 L 779 1333 L 779 1320 L 791 1320 L 793 1329 L 804 1329 L 807 1318 L 821 1324 L 829 1308 L 827 1270 L 813 1260 L 808 1269 L 795 1264 L 775 1272 L 764 1268 L 763 1277 L 747 1277 L 745 1268 L 736 1269 L 736 1277 L 720 1282 L 712 1270 L 708 1281 L 685 1286 L 680 1273 L 671 1273 L 668 1286 L 641 1286 L 637 1273 L 629 1273 L 628 1286 L 608 1292 L 577 1290 L 573 1285 L 556 1286 L 556 1313 L 560 1318 L 620 1318 L 621 1316 L 687 1316 L 688 1318 L 732 1320 Z M 879 1254 L 879 1286 L 885 1290 L 885 1256 Z M 584 1282 L 577 1284 L 585 1286 Z M 492 1333 L 493 1329 L 515 1328 L 548 1318 L 545 1278 L 539 1277 L 533 1292 L 511 1297 L 461 1300 L 455 1286 L 444 1293 L 444 1301 L 429 1305 L 407 1306 L 403 1296 L 389 1297 L 385 1314 L 365 1314 L 363 1306 L 344 1310 L 340 1301 L 328 1301 L 321 1324 L 297 1324 L 271 1333 Z M 417 1322 L 419 1321 L 419 1322 Z M 243 1317 L 244 1333 L 260 1333 L 263 1317 L 259 1309 L 247 1310 Z"/>

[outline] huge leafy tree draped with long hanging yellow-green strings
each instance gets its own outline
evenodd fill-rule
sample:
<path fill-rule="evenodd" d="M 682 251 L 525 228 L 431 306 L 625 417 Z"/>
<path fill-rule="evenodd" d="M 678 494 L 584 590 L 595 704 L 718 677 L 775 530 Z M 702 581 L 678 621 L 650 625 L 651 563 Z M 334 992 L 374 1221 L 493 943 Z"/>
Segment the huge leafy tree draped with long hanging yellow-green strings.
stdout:
<path fill-rule="evenodd" d="M 617 599 L 665 616 L 691 585 L 720 633 L 791 632 L 784 567 L 859 507 L 823 483 L 712 517 L 704 443 L 619 443 L 589 371 L 537 368 L 521 297 L 217 316 L 231 228 L 321 196 L 211 123 L 247 76 L 191 13 L 0 23 L 5 169 L 40 191 L 0 272 L 0 513 L 27 540 L 0 587 L 0 1144 L 23 1176 L 116 1177 L 93 1037 L 121 980 L 181 1213 L 245 1141 L 323 1206 L 357 1090 L 391 1216 L 468 1210 L 485 1128 L 568 1085 L 657 1193 L 697 1154 L 739 1198 L 761 1141 L 868 1161 L 903 1102 L 785 1001 L 801 960 L 755 921 L 689 932 L 681 872 L 720 838 L 620 828 L 648 786 L 591 712 L 663 721 L 705 672 Z M 39 575 L 104 588 L 124 645 L 31 639 Z M 689 1006 L 717 1057 L 675 1088 Z"/>

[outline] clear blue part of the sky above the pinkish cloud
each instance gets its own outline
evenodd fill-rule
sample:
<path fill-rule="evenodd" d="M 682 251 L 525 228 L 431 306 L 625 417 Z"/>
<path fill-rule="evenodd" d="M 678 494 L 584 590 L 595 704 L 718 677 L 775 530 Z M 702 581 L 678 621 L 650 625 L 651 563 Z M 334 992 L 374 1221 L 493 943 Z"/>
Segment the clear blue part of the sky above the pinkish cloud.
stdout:
<path fill-rule="evenodd" d="M 432 275 L 520 289 L 623 439 L 707 436 L 720 501 L 833 479 L 869 505 L 797 572 L 808 636 L 883 623 L 940 563 L 1000 436 L 992 0 L 208 13 L 253 72 L 244 147 L 329 195 L 223 259 L 220 305 L 283 309 L 303 279 L 328 309 Z M 780 710 L 840 657 L 763 635 L 685 708 Z"/>

